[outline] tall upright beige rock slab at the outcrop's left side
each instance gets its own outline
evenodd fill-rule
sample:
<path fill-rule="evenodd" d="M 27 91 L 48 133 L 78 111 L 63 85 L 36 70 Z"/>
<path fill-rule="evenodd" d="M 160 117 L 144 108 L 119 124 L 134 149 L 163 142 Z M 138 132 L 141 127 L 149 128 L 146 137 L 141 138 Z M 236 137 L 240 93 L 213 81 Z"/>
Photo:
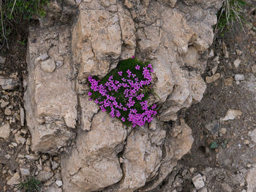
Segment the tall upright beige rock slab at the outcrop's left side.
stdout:
<path fill-rule="evenodd" d="M 72 128 L 76 126 L 78 105 L 71 76 L 71 54 L 69 53 L 69 27 L 33 28 L 29 32 L 28 70 L 29 84 L 26 90 L 26 123 L 31 133 L 34 151 L 56 153 L 74 137 Z M 58 38 L 57 38 L 58 37 Z M 37 38 L 34 43 L 33 39 Z M 56 41 L 56 38 L 58 41 Z M 50 42 L 51 41 L 51 42 Z M 41 42 L 45 42 L 41 44 Z M 41 53 L 48 52 L 54 43 L 58 53 L 64 58 L 64 65 L 53 73 L 42 72 L 41 66 L 34 64 L 34 59 Z M 46 63 L 45 63 L 46 62 Z M 53 66 L 51 59 L 42 64 Z"/>

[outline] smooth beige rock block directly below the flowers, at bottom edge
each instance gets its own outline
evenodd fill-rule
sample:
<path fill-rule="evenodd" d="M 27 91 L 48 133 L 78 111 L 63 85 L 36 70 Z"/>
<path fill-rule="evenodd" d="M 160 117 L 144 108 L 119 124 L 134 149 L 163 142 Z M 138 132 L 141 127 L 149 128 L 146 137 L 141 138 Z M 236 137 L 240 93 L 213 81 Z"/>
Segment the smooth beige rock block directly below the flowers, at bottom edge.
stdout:
<path fill-rule="evenodd" d="M 91 130 L 78 134 L 78 149 L 61 158 L 64 191 L 98 191 L 121 180 L 118 163 L 127 131 L 119 120 L 99 112 L 94 115 Z"/>

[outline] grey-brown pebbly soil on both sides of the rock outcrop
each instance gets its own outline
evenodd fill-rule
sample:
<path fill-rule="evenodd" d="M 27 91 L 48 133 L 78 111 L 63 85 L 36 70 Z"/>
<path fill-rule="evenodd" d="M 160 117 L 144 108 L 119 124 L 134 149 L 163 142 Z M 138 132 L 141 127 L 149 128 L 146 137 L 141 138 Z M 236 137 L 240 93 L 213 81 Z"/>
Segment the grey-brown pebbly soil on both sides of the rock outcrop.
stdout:
<path fill-rule="evenodd" d="M 245 18 L 256 25 L 255 9 L 246 7 Z M 3 91 L 0 88 L 1 99 L 9 101 L 15 112 L 18 112 L 19 104 L 23 107 L 22 85 L 23 77 L 27 74 L 28 26 L 28 22 L 22 23 L 18 31 L 10 36 L 10 49 L 5 47 L 0 52 L 1 56 L 7 58 L 6 64 L 0 64 L 0 76 L 15 76 L 20 80 L 20 86 L 13 91 Z M 227 46 L 228 58 L 225 58 L 222 50 L 223 42 Z M 246 189 L 246 170 L 256 163 L 256 147 L 248 136 L 249 131 L 256 128 L 256 74 L 252 72 L 252 65 L 256 64 L 255 31 L 245 28 L 245 34 L 240 29 L 227 32 L 224 37 L 217 35 L 211 49 L 214 57 L 219 55 L 216 73 L 221 74 L 221 77 L 207 84 L 206 93 L 200 103 L 193 104 L 189 110 L 182 110 L 178 115 L 192 128 L 195 139 L 192 150 L 178 161 L 173 172 L 154 191 L 195 191 L 192 177 L 199 173 L 204 176 L 208 191 L 228 191 L 224 184 L 231 191 Z M 237 55 L 236 50 L 241 50 L 242 54 Z M 208 59 L 204 78 L 212 74 L 214 57 Z M 236 58 L 241 60 L 237 68 L 233 65 Z M 236 82 L 235 74 L 244 74 L 245 80 Z M 227 85 L 225 81 L 230 77 L 233 82 Z M 241 110 L 242 115 L 224 122 L 221 118 L 225 117 L 229 109 Z M 4 115 L 4 108 L 1 108 L 0 121 L 5 120 L 7 116 Z M 20 126 L 20 120 L 17 119 L 11 124 L 11 128 L 10 139 L 0 139 L 0 191 L 12 191 L 7 180 L 18 168 L 18 155 L 28 153 L 26 145 L 12 145 L 15 142 L 14 134 L 18 130 L 27 130 L 26 126 Z M 29 138 L 29 132 L 23 134 L 23 137 Z M 218 147 L 211 148 L 212 142 L 217 142 Z M 7 153 L 11 154 L 9 160 L 5 158 Z M 33 169 L 35 165 L 30 166 Z"/>

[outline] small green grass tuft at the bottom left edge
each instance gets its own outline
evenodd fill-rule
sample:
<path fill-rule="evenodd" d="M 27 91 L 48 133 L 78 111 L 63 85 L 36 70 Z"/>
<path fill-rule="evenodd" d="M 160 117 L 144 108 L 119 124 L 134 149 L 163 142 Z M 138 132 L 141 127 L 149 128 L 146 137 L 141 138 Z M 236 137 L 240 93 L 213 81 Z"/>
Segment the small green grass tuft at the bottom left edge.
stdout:
<path fill-rule="evenodd" d="M 25 192 L 37 192 L 40 190 L 40 184 L 41 182 L 39 180 L 36 180 L 34 177 L 29 177 L 26 179 L 26 182 L 22 182 L 18 185 L 18 189 Z"/>

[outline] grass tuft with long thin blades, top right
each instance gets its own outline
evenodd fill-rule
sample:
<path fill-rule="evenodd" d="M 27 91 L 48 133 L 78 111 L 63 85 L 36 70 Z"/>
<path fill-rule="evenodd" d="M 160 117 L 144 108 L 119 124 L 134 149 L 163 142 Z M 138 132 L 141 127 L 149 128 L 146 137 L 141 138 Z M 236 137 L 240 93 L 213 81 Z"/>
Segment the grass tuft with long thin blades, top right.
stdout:
<path fill-rule="evenodd" d="M 243 7 L 246 2 L 243 0 L 224 0 L 222 8 L 217 13 L 218 22 L 215 29 L 218 29 L 221 34 L 224 31 L 233 31 L 236 23 L 239 23 L 244 31 L 243 24 L 246 20 L 242 16 Z"/>

